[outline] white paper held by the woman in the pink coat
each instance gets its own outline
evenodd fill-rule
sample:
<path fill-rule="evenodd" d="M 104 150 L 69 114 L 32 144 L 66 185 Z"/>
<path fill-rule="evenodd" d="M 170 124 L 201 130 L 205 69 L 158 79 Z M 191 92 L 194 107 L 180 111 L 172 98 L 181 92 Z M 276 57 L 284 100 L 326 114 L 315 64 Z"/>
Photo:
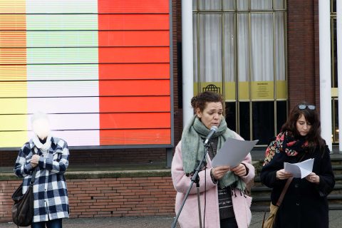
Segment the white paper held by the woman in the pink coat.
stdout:
<path fill-rule="evenodd" d="M 244 160 L 244 157 L 248 155 L 258 141 L 259 140 L 244 141 L 228 138 L 212 160 L 212 167 L 221 165 L 236 167 Z"/>

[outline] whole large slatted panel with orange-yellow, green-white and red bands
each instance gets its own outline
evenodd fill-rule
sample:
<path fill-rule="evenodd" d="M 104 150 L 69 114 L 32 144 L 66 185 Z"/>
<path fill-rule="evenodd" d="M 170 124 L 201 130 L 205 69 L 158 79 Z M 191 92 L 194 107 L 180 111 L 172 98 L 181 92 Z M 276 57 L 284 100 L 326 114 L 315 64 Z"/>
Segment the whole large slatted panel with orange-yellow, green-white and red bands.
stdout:
<path fill-rule="evenodd" d="M 169 1 L 0 1 L 0 147 L 169 145 L 170 88 Z"/>

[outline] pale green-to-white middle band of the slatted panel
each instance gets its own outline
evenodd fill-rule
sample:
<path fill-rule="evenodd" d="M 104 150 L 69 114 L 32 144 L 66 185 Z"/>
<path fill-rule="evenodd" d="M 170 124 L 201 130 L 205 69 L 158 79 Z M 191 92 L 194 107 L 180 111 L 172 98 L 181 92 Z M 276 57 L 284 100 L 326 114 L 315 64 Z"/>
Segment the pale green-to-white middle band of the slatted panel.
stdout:
<path fill-rule="evenodd" d="M 50 114 L 51 128 L 69 145 L 99 145 L 98 2 L 26 2 L 30 111 L 63 113 Z"/>

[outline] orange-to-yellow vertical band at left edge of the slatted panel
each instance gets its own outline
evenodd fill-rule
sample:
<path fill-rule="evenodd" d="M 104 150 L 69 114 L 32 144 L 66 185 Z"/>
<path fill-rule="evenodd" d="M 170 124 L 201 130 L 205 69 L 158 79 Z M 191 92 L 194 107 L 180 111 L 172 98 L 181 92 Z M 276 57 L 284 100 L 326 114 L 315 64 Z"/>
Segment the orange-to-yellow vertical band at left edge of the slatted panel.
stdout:
<path fill-rule="evenodd" d="M 24 0 L 0 1 L 0 107 L 11 114 L 0 115 L 0 147 L 17 147 L 27 140 L 21 131 L 27 128 L 26 115 L 18 115 L 27 112 L 27 101 L 3 99 L 27 96 L 25 12 Z M 12 78 L 21 81 L 9 81 Z"/>

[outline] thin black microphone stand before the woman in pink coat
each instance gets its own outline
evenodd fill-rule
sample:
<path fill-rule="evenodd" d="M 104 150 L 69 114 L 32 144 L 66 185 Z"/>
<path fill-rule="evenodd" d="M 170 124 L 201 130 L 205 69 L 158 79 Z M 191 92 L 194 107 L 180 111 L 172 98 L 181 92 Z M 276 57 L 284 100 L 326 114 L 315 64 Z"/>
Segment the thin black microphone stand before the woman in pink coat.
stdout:
<path fill-rule="evenodd" d="M 190 182 L 190 186 L 189 188 L 187 189 L 187 193 L 185 194 L 185 197 L 183 199 L 183 202 L 182 202 L 182 206 L 180 206 L 180 210 L 177 212 L 177 215 L 175 217 L 175 220 L 173 220 L 173 223 L 172 223 L 172 228 L 175 228 L 176 227 L 176 224 L 177 224 L 177 220 L 178 220 L 178 217 L 180 217 L 180 212 L 182 212 L 182 209 L 185 205 L 185 201 L 187 200 L 187 197 L 189 196 L 190 194 L 190 190 L 192 188 L 192 185 L 194 185 L 194 182 L 196 183 L 196 188 L 197 188 L 197 203 L 198 203 L 198 215 L 199 215 L 199 228 L 202 228 L 202 215 L 201 215 L 201 204 L 200 204 L 200 199 L 199 199 L 199 169 L 202 167 L 202 164 L 206 164 L 207 162 L 205 162 L 205 157 L 207 156 L 207 152 L 208 152 L 208 148 L 209 148 L 209 143 L 207 144 L 204 144 L 204 155 L 202 157 L 202 160 L 199 162 L 199 164 L 197 165 L 196 167 L 196 170 L 195 170 L 195 173 L 194 175 L 192 176 L 191 178 L 191 182 Z"/>

